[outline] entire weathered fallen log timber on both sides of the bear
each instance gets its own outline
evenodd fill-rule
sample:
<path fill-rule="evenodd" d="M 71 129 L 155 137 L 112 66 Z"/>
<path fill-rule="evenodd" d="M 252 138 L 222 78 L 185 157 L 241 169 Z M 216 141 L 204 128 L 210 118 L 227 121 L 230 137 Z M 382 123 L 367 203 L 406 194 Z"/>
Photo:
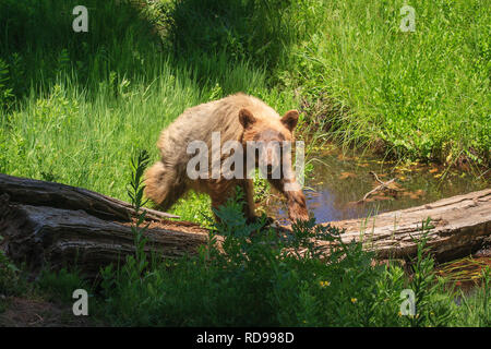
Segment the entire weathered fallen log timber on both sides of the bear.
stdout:
<path fill-rule="evenodd" d="M 86 192 L 89 191 L 0 174 L 0 236 L 4 238 L 0 248 L 13 261 L 26 262 L 33 269 L 46 263 L 59 268 L 76 262 L 88 276 L 133 254 L 128 218 L 131 206 L 104 195 L 94 202 L 92 198 L 98 194 Z M 199 225 L 149 213 L 147 252 L 178 257 L 195 253 L 207 242 L 207 230 Z M 433 226 L 428 232 L 428 244 L 439 261 L 468 255 L 490 242 L 491 189 L 330 224 L 346 229 L 342 234 L 344 242 L 362 241 L 364 249 L 375 251 L 380 258 L 406 258 L 415 255 L 416 240 L 422 234 L 427 217 L 431 217 Z M 318 243 L 328 249 L 324 242 Z"/>

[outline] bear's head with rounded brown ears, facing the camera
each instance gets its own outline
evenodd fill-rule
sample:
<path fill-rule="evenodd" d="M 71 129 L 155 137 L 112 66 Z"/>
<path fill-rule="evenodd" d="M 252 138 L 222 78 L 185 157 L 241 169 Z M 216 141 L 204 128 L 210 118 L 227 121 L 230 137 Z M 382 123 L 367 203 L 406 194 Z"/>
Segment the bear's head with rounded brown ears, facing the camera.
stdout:
<path fill-rule="evenodd" d="M 239 111 L 239 121 L 243 127 L 242 144 L 247 156 L 254 156 L 255 167 L 259 167 L 265 177 L 280 178 L 284 176 L 283 170 L 290 168 L 294 130 L 298 117 L 297 110 L 287 111 L 283 118 L 258 118 L 248 109 Z M 285 167 L 285 163 L 288 163 L 288 167 Z"/>

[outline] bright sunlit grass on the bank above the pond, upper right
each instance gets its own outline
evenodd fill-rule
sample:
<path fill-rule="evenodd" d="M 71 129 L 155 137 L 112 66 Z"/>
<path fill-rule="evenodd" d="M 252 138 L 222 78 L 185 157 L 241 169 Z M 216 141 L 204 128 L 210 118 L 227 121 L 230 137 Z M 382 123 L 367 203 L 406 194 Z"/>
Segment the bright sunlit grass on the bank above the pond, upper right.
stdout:
<path fill-rule="evenodd" d="M 489 166 L 489 1 L 411 1 L 414 33 L 399 29 L 404 4 L 324 1 L 321 28 L 292 49 L 288 86 L 332 105 L 322 122 L 345 144 Z"/>

